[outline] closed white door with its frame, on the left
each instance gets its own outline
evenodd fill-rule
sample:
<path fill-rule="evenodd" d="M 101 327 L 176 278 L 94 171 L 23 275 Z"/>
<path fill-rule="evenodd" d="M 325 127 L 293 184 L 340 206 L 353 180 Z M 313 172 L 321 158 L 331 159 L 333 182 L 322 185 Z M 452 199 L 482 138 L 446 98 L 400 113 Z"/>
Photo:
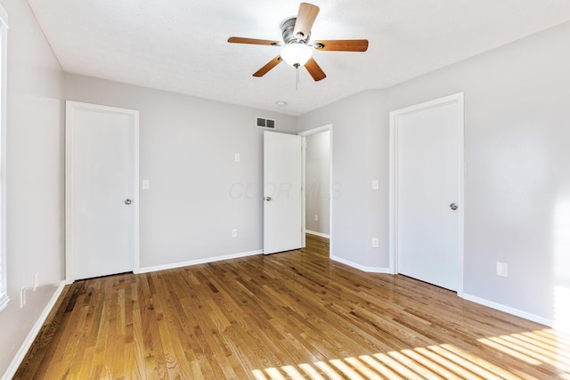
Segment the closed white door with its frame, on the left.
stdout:
<path fill-rule="evenodd" d="M 67 101 L 67 280 L 134 270 L 138 111 Z"/>

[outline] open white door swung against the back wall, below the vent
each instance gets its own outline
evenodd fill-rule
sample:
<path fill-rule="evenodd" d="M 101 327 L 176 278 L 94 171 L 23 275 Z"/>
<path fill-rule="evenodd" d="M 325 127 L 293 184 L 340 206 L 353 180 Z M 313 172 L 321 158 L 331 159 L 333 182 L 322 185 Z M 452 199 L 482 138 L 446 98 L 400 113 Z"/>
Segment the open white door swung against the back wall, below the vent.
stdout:
<path fill-rule="evenodd" d="M 264 132 L 264 254 L 302 247 L 302 138 Z"/>

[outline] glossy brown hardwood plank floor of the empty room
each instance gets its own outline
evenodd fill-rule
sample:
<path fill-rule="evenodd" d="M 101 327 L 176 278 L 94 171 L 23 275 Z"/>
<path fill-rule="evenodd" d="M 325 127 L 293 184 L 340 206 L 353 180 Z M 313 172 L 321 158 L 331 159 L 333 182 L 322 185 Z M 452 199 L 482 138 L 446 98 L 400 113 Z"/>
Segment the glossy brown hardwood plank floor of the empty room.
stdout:
<path fill-rule="evenodd" d="M 66 289 L 17 379 L 566 378 L 570 337 L 307 248 Z"/>

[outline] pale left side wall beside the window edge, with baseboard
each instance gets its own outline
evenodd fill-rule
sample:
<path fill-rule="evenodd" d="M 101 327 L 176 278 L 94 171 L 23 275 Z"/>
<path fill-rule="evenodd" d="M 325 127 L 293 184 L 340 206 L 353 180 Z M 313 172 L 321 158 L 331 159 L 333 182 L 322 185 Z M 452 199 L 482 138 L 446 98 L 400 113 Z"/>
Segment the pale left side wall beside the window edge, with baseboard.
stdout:
<path fill-rule="evenodd" d="M 7 279 L 11 302 L 0 312 L 0 375 L 61 285 L 63 258 L 63 76 L 21 0 L 8 13 Z M 40 287 L 32 291 L 34 274 Z M 20 288 L 27 303 L 20 309 Z M 24 352 L 25 353 L 25 352 Z"/>

